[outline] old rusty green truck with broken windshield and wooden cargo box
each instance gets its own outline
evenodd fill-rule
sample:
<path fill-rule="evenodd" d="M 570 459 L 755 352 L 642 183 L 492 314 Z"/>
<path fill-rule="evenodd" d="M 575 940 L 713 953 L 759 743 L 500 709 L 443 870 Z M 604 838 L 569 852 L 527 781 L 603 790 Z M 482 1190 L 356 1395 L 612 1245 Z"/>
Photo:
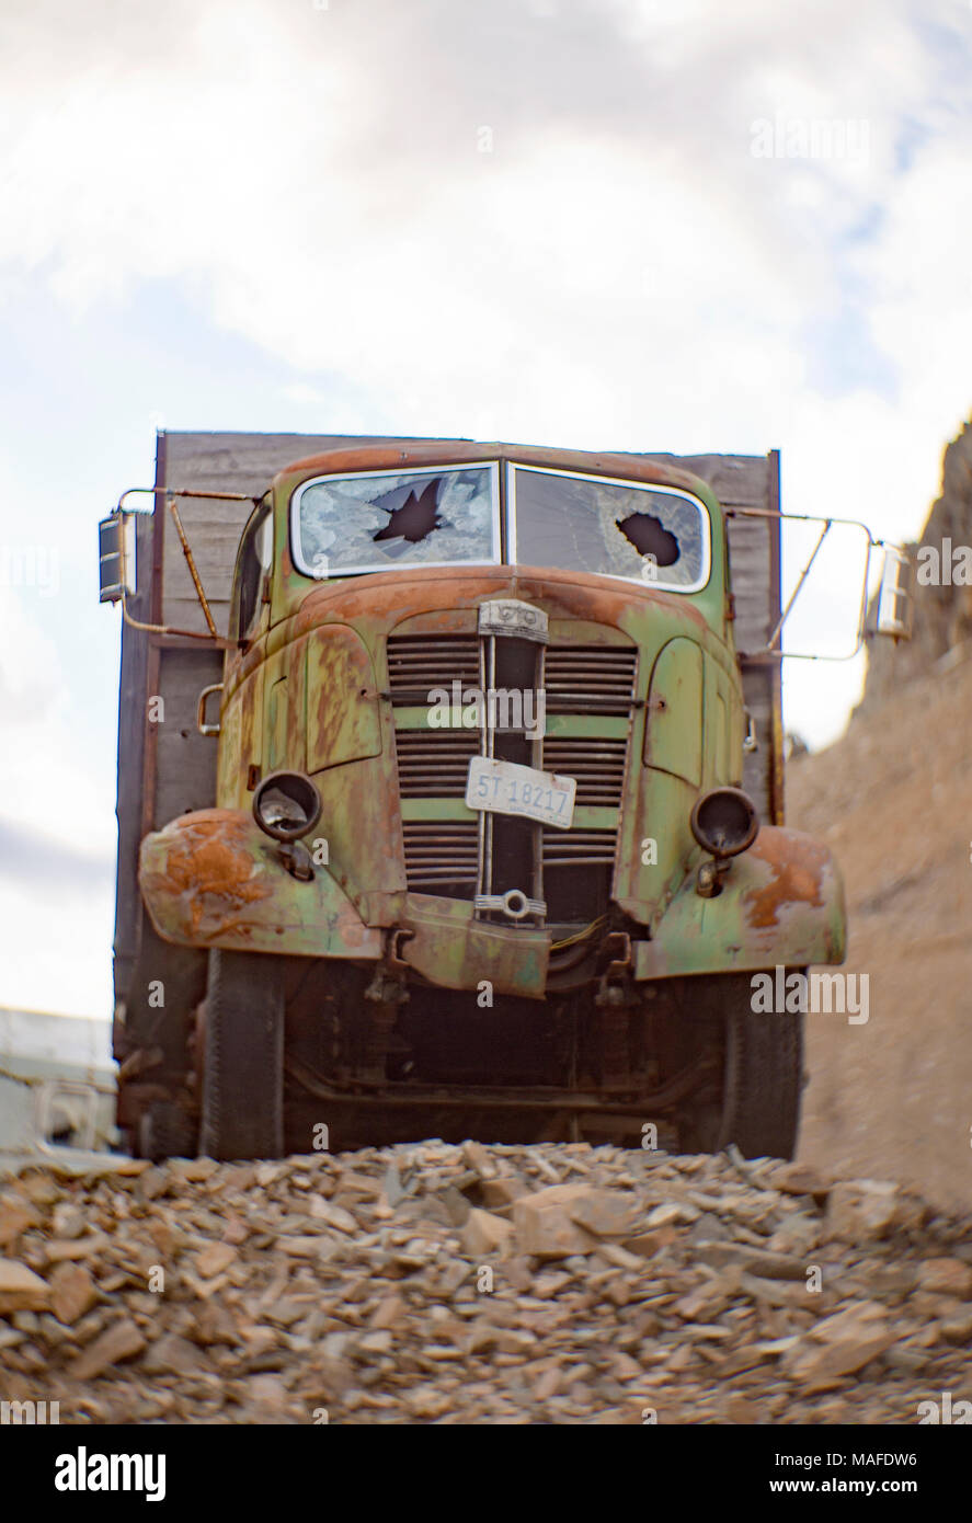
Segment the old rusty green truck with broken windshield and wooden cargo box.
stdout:
<path fill-rule="evenodd" d="M 154 493 L 102 556 L 134 1150 L 792 1156 L 751 976 L 844 905 L 783 824 L 777 455 L 163 434 Z"/>

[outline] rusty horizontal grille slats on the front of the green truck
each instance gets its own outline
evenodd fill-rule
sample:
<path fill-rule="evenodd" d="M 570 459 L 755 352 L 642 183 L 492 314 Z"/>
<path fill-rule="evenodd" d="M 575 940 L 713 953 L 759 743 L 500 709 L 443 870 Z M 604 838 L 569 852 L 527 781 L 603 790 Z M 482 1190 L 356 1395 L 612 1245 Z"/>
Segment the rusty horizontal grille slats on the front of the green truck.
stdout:
<path fill-rule="evenodd" d="M 637 652 L 622 646 L 547 646 L 542 684 L 547 714 L 631 714 Z M 472 899 L 480 877 L 478 821 L 449 819 L 451 804 L 465 800 L 469 758 L 481 751 L 478 730 L 410 728 L 402 710 L 428 707 L 433 688 L 452 696 L 452 684 L 481 687 L 478 635 L 392 635 L 388 690 L 396 713 L 395 746 L 402 798 L 405 874 L 414 892 Z M 411 719 L 414 723 L 414 717 Z M 542 766 L 577 780 L 576 807 L 617 810 L 622 801 L 628 737 L 545 736 Z M 442 801 L 440 818 L 410 818 L 408 806 Z M 539 827 L 538 827 L 539 829 Z M 611 868 L 617 825 L 571 830 L 539 829 L 542 868 Z"/>

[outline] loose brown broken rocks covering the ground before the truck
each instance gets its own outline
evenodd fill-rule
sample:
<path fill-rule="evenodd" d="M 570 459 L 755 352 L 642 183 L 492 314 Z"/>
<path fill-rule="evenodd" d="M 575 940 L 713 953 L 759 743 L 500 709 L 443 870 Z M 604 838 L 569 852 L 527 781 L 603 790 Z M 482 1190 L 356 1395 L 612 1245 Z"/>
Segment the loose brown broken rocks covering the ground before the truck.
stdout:
<path fill-rule="evenodd" d="M 427 1142 L 0 1182 L 0 1397 L 61 1422 L 916 1422 L 972 1232 L 803 1164 Z"/>

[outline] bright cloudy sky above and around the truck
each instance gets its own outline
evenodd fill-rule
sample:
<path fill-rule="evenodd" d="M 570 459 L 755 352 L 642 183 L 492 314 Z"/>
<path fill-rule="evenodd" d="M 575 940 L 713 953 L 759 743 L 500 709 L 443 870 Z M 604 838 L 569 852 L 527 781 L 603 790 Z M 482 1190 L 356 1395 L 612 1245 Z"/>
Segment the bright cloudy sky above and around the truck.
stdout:
<path fill-rule="evenodd" d="M 964 0 L 3 0 L 0 1005 L 111 1013 L 96 525 L 157 428 L 779 448 L 785 509 L 916 538 L 970 58 Z M 791 638 L 849 649 L 820 573 Z M 788 661 L 788 728 L 862 670 Z"/>

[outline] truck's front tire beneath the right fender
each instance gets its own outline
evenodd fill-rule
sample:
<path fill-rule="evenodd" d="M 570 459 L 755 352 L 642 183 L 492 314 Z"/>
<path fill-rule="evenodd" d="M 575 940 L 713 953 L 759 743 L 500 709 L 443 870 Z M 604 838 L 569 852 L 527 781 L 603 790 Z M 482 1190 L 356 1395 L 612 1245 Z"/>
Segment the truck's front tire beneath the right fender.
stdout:
<path fill-rule="evenodd" d="M 795 972 L 788 969 L 788 973 Z M 734 1142 L 743 1157 L 792 1157 L 803 1092 L 803 1014 L 751 1008 L 748 975 L 719 979 L 724 1036 L 722 1097 L 687 1119 L 681 1144 L 719 1153 Z"/>

